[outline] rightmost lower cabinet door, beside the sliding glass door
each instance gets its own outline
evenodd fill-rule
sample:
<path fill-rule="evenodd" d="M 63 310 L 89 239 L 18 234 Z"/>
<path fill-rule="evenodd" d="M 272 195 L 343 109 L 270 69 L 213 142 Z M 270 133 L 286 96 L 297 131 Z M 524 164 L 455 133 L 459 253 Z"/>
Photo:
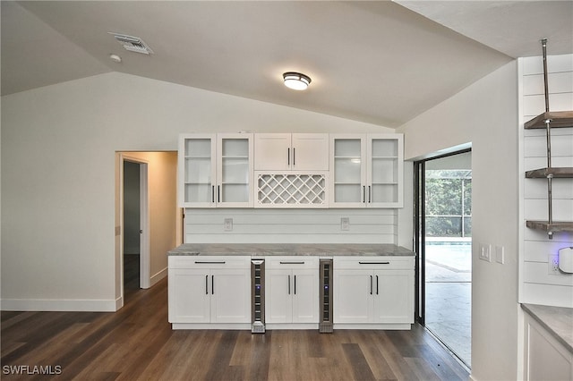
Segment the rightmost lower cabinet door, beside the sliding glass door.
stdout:
<path fill-rule="evenodd" d="M 414 323 L 414 270 L 374 272 L 374 321 Z"/>

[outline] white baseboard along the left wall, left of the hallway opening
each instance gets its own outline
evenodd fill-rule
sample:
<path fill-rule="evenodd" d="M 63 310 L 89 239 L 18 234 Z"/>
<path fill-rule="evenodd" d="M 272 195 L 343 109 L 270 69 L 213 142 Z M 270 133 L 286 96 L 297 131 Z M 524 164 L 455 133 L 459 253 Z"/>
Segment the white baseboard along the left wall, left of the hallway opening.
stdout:
<path fill-rule="evenodd" d="M 3 299 L 3 311 L 77 311 L 77 312 L 115 312 L 121 307 L 118 300 L 49 300 L 49 299 Z M 118 304 L 119 303 L 119 304 Z"/>

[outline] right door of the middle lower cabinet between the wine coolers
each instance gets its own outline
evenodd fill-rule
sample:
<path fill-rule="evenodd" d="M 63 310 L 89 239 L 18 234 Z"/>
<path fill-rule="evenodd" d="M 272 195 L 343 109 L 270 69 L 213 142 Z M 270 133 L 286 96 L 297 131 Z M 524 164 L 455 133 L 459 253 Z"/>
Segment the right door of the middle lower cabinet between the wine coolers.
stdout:
<path fill-rule="evenodd" d="M 319 274 L 317 270 L 295 270 L 293 286 L 293 323 L 319 322 Z"/>

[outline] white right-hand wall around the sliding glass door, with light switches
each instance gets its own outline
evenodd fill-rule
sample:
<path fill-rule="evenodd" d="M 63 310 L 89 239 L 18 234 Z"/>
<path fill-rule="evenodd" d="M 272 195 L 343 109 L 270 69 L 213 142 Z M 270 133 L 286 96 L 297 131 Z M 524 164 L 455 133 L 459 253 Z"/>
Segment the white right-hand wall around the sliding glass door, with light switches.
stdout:
<path fill-rule="evenodd" d="M 472 146 L 472 378 L 512 380 L 518 372 L 517 63 L 419 115 L 405 133 L 405 157 Z M 505 264 L 477 259 L 479 243 L 501 246 Z"/>

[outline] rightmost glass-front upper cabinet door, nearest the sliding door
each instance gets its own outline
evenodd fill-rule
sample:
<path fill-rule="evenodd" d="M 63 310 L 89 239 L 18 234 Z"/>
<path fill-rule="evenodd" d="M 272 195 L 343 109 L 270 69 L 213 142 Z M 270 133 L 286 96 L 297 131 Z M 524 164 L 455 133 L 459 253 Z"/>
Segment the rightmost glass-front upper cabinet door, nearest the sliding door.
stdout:
<path fill-rule="evenodd" d="M 368 135 L 367 205 L 402 207 L 404 150 L 401 134 Z"/>

